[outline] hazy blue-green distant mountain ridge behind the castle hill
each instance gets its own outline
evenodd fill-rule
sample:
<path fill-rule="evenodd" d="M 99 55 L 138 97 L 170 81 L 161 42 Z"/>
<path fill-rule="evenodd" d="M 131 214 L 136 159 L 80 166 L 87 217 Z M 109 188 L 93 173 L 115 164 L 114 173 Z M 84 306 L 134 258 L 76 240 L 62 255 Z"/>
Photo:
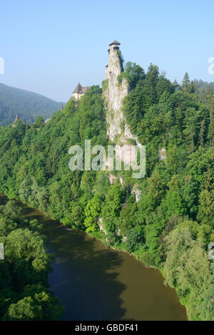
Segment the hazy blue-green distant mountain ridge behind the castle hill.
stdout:
<path fill-rule="evenodd" d="M 46 119 L 60 108 L 61 103 L 38 93 L 0 83 L 0 125 L 13 123 L 16 115 L 31 124 L 38 115 Z"/>

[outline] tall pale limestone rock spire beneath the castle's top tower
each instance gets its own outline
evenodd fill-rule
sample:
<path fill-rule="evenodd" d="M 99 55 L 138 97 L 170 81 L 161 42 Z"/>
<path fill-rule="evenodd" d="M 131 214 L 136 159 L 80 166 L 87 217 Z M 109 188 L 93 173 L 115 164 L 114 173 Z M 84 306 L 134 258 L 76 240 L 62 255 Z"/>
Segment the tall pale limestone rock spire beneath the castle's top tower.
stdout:
<path fill-rule="evenodd" d="M 108 83 L 108 86 L 104 91 L 107 109 L 107 135 L 115 143 L 116 155 L 121 157 L 124 165 L 130 165 L 136 159 L 137 153 L 137 147 L 133 147 L 133 144 L 138 147 L 141 144 L 138 142 L 136 135 L 131 133 L 126 118 L 123 115 L 123 98 L 128 96 L 128 82 L 126 78 L 123 78 L 121 83 L 118 82 L 118 76 L 122 72 L 118 49 L 114 50 L 110 47 L 108 55 L 108 66 L 106 66 L 108 69 L 106 71 L 106 84 Z M 116 177 L 111 174 L 108 175 L 108 179 L 111 185 L 116 181 Z M 123 187 L 122 178 L 120 178 L 120 182 Z M 133 194 L 138 202 L 141 192 L 138 189 L 134 189 Z"/>

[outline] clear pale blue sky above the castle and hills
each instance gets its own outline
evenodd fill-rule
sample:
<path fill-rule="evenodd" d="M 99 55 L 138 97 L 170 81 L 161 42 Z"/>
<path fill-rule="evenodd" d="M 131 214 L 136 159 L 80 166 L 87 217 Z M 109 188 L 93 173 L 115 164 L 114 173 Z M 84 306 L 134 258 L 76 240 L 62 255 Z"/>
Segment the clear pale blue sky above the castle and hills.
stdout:
<path fill-rule="evenodd" d="M 101 84 L 115 39 L 145 70 L 214 81 L 213 0 L 7 0 L 0 11 L 0 82 L 10 86 L 66 101 L 78 81 Z"/>

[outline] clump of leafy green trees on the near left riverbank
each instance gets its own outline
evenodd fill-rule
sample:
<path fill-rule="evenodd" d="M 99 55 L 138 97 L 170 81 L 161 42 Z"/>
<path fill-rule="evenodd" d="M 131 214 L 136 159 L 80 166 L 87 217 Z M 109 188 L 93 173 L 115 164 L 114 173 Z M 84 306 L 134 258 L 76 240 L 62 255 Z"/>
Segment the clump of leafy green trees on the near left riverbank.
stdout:
<path fill-rule="evenodd" d="M 53 297 L 48 272 L 53 258 L 46 252 L 42 225 L 20 219 L 21 208 L 10 200 L 0 206 L 0 320 L 57 320 L 63 306 Z"/>

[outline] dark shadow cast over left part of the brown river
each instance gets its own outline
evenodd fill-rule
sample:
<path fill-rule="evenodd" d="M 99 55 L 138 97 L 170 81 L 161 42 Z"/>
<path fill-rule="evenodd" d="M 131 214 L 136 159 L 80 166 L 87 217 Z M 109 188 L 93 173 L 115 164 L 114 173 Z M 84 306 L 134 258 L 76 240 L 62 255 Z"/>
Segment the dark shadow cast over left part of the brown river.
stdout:
<path fill-rule="evenodd" d="M 49 283 L 66 307 L 62 319 L 123 319 L 126 310 L 121 307 L 120 296 L 126 286 L 117 279 L 121 254 L 83 232 L 67 230 L 38 210 L 24 206 L 21 214 L 44 224 L 44 234 L 49 237 L 47 247 L 56 254 Z"/>

